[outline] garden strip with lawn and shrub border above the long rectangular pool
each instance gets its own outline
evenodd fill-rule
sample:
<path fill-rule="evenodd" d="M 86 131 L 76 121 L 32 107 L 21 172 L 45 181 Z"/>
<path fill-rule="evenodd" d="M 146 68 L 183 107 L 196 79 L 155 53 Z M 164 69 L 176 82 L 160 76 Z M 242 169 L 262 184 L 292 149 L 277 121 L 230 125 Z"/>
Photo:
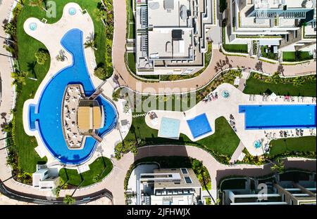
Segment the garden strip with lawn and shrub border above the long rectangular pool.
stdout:
<path fill-rule="evenodd" d="M 278 77 L 277 74 L 266 77 L 252 73 L 243 92 L 258 95 L 275 93 L 276 95 L 316 97 L 316 75 L 285 79 Z"/>

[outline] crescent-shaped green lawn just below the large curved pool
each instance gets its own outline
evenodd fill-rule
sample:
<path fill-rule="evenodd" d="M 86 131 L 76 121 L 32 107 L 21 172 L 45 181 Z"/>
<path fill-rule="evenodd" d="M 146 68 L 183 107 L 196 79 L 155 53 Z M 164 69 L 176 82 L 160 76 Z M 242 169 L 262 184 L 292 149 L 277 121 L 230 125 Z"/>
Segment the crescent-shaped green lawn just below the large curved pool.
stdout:
<path fill-rule="evenodd" d="M 80 185 L 82 180 L 84 180 L 81 187 L 85 187 L 97 183 L 98 180 L 105 178 L 106 175 L 112 171 L 113 164 L 110 159 L 106 157 L 99 157 L 89 165 L 89 168 L 90 171 L 82 173 L 81 175 L 78 174 L 77 170 L 62 168 L 59 171 L 59 176 L 65 183 L 68 181 L 68 185 L 73 186 Z"/>

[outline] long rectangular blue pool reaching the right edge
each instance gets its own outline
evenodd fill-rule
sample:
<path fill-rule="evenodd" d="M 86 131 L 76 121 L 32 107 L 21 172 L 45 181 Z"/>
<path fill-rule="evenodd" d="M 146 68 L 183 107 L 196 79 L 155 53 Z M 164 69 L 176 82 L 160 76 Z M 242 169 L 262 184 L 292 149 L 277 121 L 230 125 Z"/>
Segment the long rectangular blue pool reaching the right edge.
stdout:
<path fill-rule="evenodd" d="M 316 105 L 240 105 L 245 129 L 315 128 Z"/>

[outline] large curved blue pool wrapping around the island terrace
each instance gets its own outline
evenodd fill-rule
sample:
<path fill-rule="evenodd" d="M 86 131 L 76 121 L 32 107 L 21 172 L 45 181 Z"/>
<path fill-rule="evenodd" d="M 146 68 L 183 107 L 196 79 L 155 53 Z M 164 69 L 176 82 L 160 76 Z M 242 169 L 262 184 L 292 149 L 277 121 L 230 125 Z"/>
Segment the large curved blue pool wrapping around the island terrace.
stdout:
<path fill-rule="evenodd" d="M 69 150 L 62 130 L 61 106 L 66 86 L 82 84 L 87 96 L 94 93 L 85 62 L 83 42 L 80 29 L 72 29 L 63 36 L 61 45 L 73 55 L 73 65 L 62 69 L 49 81 L 42 91 L 38 105 L 29 106 L 30 128 L 39 131 L 49 152 L 64 164 L 80 164 L 87 161 L 97 145 L 96 140 L 89 137 L 82 150 Z M 116 126 L 117 113 L 115 107 L 105 98 L 99 96 L 97 100 L 104 106 L 105 111 L 104 128 L 99 130 L 102 137 Z"/>

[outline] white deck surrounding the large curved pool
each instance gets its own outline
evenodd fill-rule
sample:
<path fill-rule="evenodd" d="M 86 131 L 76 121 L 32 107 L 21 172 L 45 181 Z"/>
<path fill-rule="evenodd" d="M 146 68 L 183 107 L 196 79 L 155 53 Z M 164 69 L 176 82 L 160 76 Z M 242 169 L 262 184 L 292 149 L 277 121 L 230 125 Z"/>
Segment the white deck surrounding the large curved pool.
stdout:
<path fill-rule="evenodd" d="M 77 13 L 75 15 L 70 15 L 68 13 L 69 8 L 75 8 Z M 29 18 L 24 23 L 24 29 L 27 34 L 32 36 L 33 38 L 41 41 L 49 51 L 51 55 L 51 66 L 49 69 L 49 72 L 47 72 L 46 77 L 42 81 L 42 84 L 39 86 L 37 93 L 35 94 L 35 98 L 32 100 L 27 100 L 25 102 L 24 108 L 23 108 L 23 125 L 25 128 L 25 132 L 27 135 L 35 136 L 37 139 L 38 147 L 37 151 L 40 152 L 41 157 L 46 156 L 48 159 L 48 166 L 56 165 L 59 163 L 57 159 L 55 159 L 54 156 L 51 155 L 49 150 L 46 149 L 46 146 L 44 145 L 44 142 L 42 142 L 42 138 L 39 135 L 38 131 L 31 131 L 28 127 L 29 121 L 28 121 L 28 106 L 31 104 L 37 105 L 39 102 L 39 99 L 41 97 L 41 93 L 43 89 L 45 88 L 46 84 L 49 83 L 50 79 L 54 77 L 58 72 L 61 71 L 61 69 L 64 69 L 65 67 L 68 67 L 72 65 L 73 63 L 73 57 L 68 51 L 66 51 L 63 46 L 61 45 L 61 39 L 63 36 L 70 30 L 70 29 L 80 29 L 83 32 L 83 39 L 84 41 L 94 34 L 94 24 L 92 22 L 92 18 L 89 16 L 88 13 L 82 13 L 83 9 L 80 8 L 78 4 L 75 3 L 69 3 L 66 4 L 66 6 L 63 8 L 63 15 L 61 20 L 54 24 L 45 24 L 44 22 L 41 22 L 37 18 Z M 35 22 L 37 24 L 37 29 L 31 30 L 29 28 L 29 25 L 31 23 Z M 83 42 L 85 43 L 85 42 Z M 60 62 L 56 60 L 56 56 L 58 55 L 59 51 L 66 52 L 66 60 L 64 62 Z M 87 63 L 87 69 L 89 72 L 89 76 L 92 79 L 92 83 L 94 84 L 94 87 L 100 86 L 104 81 L 101 81 L 97 77 L 94 76 L 94 68 L 96 67 L 95 62 L 95 56 L 94 56 L 94 50 L 92 48 L 85 48 L 85 60 Z M 103 95 L 106 96 L 106 98 L 112 100 L 112 93 L 114 88 L 116 88 L 116 83 L 113 82 L 113 80 L 109 79 L 106 81 L 105 84 L 102 85 L 102 88 L 104 89 Z M 85 164 L 82 164 L 81 167 L 75 167 L 75 166 L 67 166 L 68 168 L 74 168 L 74 169 L 80 169 L 83 170 L 89 170 L 87 166 L 91 164 L 95 159 L 98 157 L 104 156 L 110 158 L 111 155 L 114 154 L 114 147 L 115 145 L 121 141 L 121 139 L 125 138 L 127 133 L 120 133 L 120 121 L 121 120 L 127 120 L 129 124 L 132 124 L 132 112 L 124 112 L 123 109 L 123 102 L 125 100 L 118 100 L 118 102 L 113 102 L 113 105 L 115 105 L 116 110 L 118 110 L 118 123 L 116 128 L 114 128 L 110 133 L 104 136 L 104 141 L 101 142 L 99 145 L 97 145 L 97 150 L 92 155 L 92 158 L 89 159 Z M 130 127 L 128 127 L 130 128 Z M 62 168 L 62 165 L 59 166 L 59 168 Z"/>

